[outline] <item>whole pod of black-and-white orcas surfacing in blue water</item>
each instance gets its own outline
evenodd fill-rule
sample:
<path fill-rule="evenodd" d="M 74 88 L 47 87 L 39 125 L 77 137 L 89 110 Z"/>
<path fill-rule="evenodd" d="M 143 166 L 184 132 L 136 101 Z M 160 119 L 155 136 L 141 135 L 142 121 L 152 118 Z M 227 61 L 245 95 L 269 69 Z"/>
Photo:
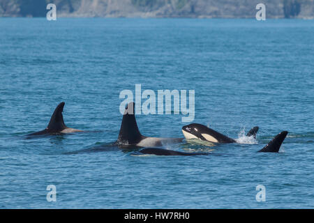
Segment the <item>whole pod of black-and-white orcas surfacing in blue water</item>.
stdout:
<path fill-rule="evenodd" d="M 68 128 L 63 121 L 63 107 L 65 103 L 61 102 L 56 109 L 54 109 L 54 113 L 50 118 L 50 122 L 47 125 L 47 128 L 41 130 L 39 132 L 33 132 L 31 134 L 27 134 L 27 136 L 38 136 L 44 134 L 66 134 L 73 132 L 83 132 L 82 130 L 76 130 L 73 128 Z M 148 154 L 148 155 L 209 155 L 209 153 L 188 153 L 188 152 L 180 152 L 180 151 L 172 151 L 165 148 L 160 148 L 165 144 L 176 144 L 184 139 L 186 141 L 190 141 L 190 139 L 198 139 L 201 141 L 207 141 L 216 144 L 231 144 L 237 143 L 235 139 L 231 139 L 230 137 L 221 134 L 220 132 L 216 132 L 211 128 L 208 128 L 205 125 L 191 123 L 189 125 L 185 125 L 182 127 L 182 132 L 185 138 L 158 138 L 158 137 L 146 137 L 140 133 L 140 130 L 137 127 L 136 119 L 135 119 L 135 103 L 130 102 L 126 106 L 124 111 L 124 116 L 122 118 L 121 128 L 119 132 L 118 139 L 115 144 L 119 147 L 128 147 L 128 146 L 140 146 L 142 148 L 139 153 L 140 154 Z M 256 137 L 258 126 L 252 128 L 247 134 L 247 137 Z M 269 143 L 264 146 L 260 151 L 263 153 L 278 153 L 281 148 L 281 144 L 283 144 L 283 140 L 287 136 L 287 131 L 280 132 L 274 137 Z M 158 148 L 156 148 L 157 146 Z"/>

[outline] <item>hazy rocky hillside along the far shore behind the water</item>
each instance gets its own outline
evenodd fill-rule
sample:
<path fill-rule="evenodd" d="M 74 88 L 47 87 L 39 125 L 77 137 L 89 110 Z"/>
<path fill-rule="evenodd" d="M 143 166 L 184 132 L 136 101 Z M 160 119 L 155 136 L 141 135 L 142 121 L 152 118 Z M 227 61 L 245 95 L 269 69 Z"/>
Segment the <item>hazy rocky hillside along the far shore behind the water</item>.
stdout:
<path fill-rule="evenodd" d="M 47 3 L 58 17 L 255 17 L 257 3 L 267 18 L 313 18 L 314 0 L 0 0 L 1 17 L 45 17 Z"/>

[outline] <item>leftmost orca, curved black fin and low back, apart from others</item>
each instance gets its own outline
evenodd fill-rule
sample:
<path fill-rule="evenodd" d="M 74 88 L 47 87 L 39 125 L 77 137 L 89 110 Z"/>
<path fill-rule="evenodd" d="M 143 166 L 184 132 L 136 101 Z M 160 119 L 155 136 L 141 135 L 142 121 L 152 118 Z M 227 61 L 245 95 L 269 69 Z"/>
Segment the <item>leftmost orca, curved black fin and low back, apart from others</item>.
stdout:
<path fill-rule="evenodd" d="M 56 109 L 54 109 L 54 113 L 50 118 L 50 122 L 45 128 L 45 130 L 39 132 L 33 132 L 31 134 L 27 134 L 27 136 L 33 135 L 41 135 L 41 134 L 63 134 L 63 133 L 72 133 L 72 132 L 82 132 L 82 130 L 75 130 L 74 128 L 68 128 L 63 121 L 63 107 L 65 102 L 61 102 Z"/>

